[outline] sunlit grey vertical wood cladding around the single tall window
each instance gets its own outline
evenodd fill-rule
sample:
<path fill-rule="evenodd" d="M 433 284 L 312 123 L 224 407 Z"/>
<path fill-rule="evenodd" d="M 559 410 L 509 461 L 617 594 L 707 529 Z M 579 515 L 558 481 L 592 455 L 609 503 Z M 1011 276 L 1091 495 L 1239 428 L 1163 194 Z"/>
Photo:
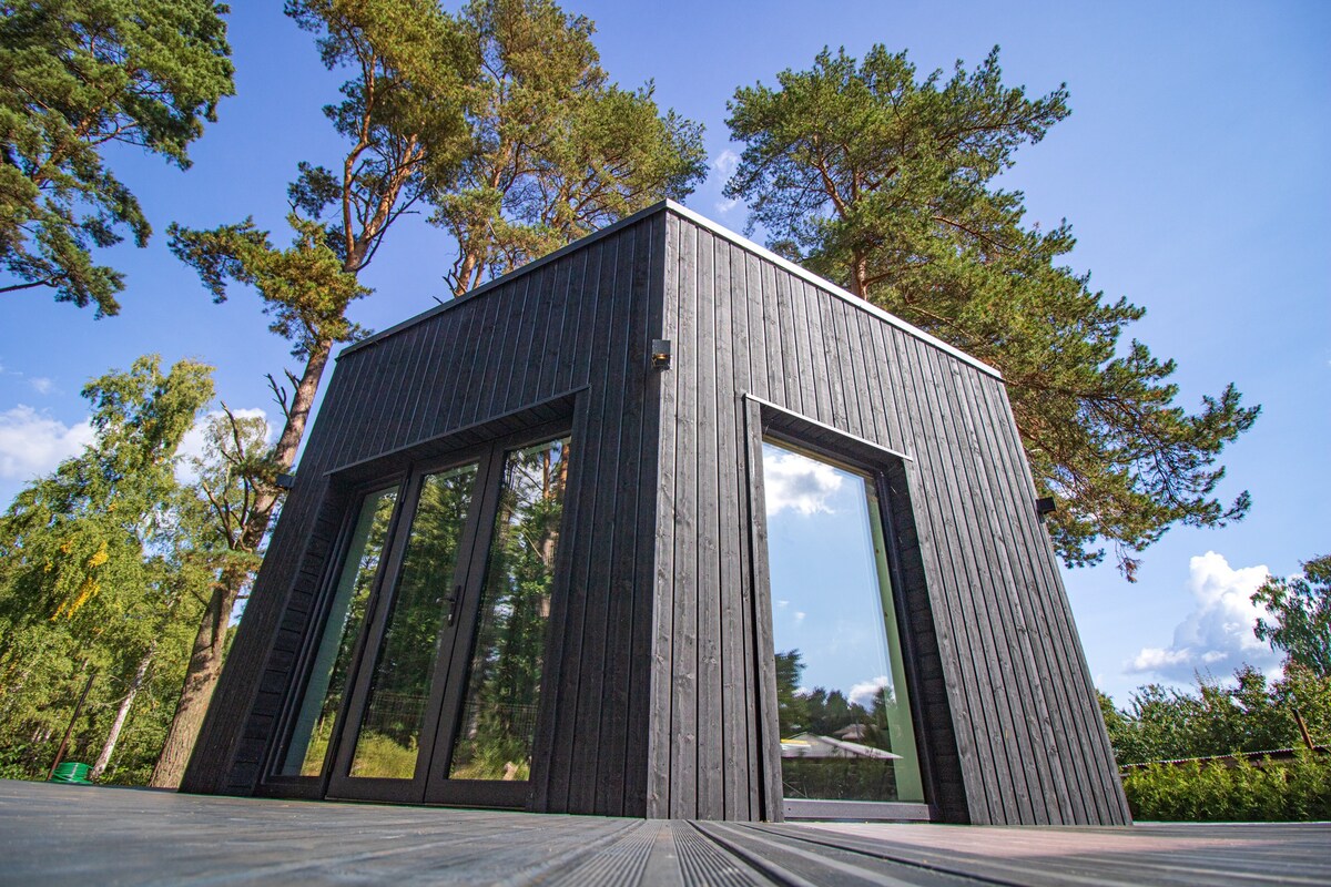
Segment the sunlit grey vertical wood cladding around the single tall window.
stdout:
<path fill-rule="evenodd" d="M 889 485 L 936 815 L 1125 822 L 1002 382 L 691 218 L 666 237 L 648 815 L 764 815 L 751 395 L 910 457 Z"/>

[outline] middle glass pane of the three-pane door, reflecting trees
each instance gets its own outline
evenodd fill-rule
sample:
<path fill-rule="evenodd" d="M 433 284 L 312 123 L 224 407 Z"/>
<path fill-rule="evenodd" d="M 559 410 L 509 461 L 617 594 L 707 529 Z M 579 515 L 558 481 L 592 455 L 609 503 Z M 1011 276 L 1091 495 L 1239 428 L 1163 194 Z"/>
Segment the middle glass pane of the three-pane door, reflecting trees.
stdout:
<path fill-rule="evenodd" d="M 475 477 L 476 465 L 471 464 L 426 475 L 421 481 L 421 499 L 355 739 L 353 777 L 415 775 L 439 630 L 451 609 L 458 545 Z"/>

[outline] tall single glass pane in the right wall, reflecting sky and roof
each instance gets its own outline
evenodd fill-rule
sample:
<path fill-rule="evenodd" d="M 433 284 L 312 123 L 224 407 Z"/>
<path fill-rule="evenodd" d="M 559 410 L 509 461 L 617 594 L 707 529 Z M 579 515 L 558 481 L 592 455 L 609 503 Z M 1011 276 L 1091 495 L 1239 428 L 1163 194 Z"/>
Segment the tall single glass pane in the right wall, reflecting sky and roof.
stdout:
<path fill-rule="evenodd" d="M 787 801 L 922 802 L 873 479 L 763 443 Z"/>

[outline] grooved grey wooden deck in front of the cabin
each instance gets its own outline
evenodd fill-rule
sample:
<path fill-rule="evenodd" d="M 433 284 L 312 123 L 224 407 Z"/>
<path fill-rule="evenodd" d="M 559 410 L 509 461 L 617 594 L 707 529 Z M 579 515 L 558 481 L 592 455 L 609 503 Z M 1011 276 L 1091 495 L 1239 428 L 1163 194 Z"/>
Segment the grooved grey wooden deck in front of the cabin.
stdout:
<path fill-rule="evenodd" d="M 3 884 L 1331 884 L 1331 823 L 727 824 L 0 781 Z"/>

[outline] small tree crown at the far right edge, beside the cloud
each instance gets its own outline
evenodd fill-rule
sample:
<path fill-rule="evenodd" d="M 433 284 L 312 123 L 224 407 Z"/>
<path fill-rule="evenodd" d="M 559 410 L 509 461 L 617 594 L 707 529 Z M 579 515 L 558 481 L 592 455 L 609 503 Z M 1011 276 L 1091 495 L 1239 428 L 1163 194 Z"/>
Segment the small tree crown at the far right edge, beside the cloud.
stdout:
<path fill-rule="evenodd" d="M 1259 640 L 1284 650 L 1291 662 L 1331 678 L 1331 555 L 1304 561 L 1302 576 L 1268 576 L 1252 602 L 1271 617 L 1256 621 Z"/>

